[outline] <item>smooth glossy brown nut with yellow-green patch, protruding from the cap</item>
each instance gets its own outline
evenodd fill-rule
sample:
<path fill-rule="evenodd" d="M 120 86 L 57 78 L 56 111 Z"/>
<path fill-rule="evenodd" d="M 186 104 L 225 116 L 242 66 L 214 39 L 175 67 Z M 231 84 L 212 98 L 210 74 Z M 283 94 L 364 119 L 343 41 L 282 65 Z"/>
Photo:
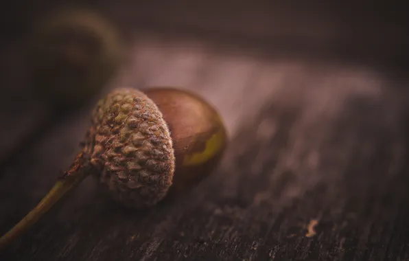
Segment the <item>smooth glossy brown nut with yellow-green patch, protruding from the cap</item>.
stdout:
<path fill-rule="evenodd" d="M 170 192 L 186 192 L 208 177 L 222 158 L 227 144 L 222 119 L 208 102 L 189 91 L 169 87 L 142 91 L 170 128 L 176 157 Z"/>

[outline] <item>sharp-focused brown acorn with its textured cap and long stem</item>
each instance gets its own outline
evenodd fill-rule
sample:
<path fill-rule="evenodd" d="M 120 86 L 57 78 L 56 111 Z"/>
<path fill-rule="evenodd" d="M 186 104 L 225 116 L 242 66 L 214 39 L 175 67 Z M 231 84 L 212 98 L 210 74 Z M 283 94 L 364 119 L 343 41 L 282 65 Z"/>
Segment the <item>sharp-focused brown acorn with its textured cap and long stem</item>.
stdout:
<path fill-rule="evenodd" d="M 84 146 L 47 196 L 7 234 L 5 247 L 92 175 L 115 201 L 152 207 L 183 194 L 218 165 L 227 144 L 220 115 L 198 95 L 156 87 L 114 89 L 95 106 Z"/>

